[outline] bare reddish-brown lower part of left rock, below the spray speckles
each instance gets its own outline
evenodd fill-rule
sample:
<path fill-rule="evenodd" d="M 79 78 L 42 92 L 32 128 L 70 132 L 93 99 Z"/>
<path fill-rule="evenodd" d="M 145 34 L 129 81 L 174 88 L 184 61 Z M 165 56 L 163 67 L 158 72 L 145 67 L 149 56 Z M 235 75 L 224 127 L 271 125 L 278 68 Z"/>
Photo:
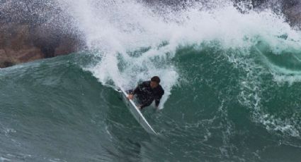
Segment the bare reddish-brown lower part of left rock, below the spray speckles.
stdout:
<path fill-rule="evenodd" d="M 84 46 L 75 35 L 59 35 L 40 25 L 9 24 L 0 27 L 0 68 L 78 51 Z"/>

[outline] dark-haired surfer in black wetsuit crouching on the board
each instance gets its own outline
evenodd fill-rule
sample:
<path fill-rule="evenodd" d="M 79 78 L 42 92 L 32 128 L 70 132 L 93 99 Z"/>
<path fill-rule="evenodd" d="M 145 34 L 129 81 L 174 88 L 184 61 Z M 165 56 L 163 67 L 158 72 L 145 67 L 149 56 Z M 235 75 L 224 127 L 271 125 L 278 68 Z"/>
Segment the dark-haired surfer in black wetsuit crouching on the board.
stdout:
<path fill-rule="evenodd" d="M 152 77 L 151 80 L 142 82 L 134 90 L 130 91 L 127 99 L 133 99 L 134 95 L 137 94 L 138 102 L 140 105 L 138 108 L 142 109 L 152 104 L 155 101 L 156 107 L 159 106 L 160 99 L 164 94 L 164 89 L 159 85 L 160 78 L 157 76 Z"/>

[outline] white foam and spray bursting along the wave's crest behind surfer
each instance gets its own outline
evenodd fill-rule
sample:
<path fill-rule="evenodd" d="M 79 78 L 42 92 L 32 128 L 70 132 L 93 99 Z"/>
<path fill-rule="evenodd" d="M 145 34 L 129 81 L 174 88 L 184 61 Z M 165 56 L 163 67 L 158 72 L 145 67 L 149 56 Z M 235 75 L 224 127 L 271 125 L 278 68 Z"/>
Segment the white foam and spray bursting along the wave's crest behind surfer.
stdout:
<path fill-rule="evenodd" d="M 163 103 L 178 80 L 178 69 L 170 63 L 179 46 L 219 42 L 225 56 L 246 76 L 241 81 L 239 102 L 254 109 L 254 119 L 267 129 L 300 136 L 293 123 L 266 116 L 261 108 L 261 74 L 271 73 L 276 82 L 300 82 L 301 73 L 283 70 L 272 63 L 256 64 L 250 49 L 268 42 L 273 54 L 301 50 L 301 34 L 282 15 L 271 10 L 242 14 L 230 1 L 212 8 L 201 4 L 180 11 L 147 6 L 138 1 L 64 0 L 59 3 L 74 18 L 74 26 L 84 33 L 86 44 L 101 61 L 87 68 L 104 85 L 134 87 L 139 80 L 161 77 L 166 90 Z M 222 6 L 216 5 L 221 4 Z M 246 4 L 247 6 L 249 4 Z M 244 5 L 242 5 L 244 6 Z M 202 9 L 200 9 L 202 8 Z M 144 50 L 142 50 L 144 49 Z M 139 52 L 140 51 L 140 52 Z M 260 54 L 261 51 L 258 49 Z M 134 54 L 136 53 L 136 54 Z M 264 58 L 264 56 L 263 56 Z"/>

